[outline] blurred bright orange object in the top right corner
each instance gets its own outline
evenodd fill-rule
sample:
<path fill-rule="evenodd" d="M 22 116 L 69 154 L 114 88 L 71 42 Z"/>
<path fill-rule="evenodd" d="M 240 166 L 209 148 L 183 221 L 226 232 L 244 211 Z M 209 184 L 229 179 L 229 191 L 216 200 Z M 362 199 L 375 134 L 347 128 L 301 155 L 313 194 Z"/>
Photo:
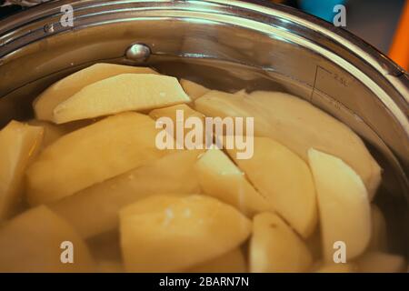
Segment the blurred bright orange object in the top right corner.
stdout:
<path fill-rule="evenodd" d="M 406 71 L 409 70 L 409 0 L 406 0 L 389 56 Z"/>

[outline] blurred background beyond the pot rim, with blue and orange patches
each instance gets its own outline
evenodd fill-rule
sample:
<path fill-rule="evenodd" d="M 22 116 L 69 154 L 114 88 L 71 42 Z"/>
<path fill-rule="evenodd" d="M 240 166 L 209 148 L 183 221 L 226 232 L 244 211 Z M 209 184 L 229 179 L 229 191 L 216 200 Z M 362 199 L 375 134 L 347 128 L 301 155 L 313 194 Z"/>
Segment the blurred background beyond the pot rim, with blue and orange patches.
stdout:
<path fill-rule="evenodd" d="M 409 70 L 409 0 L 261 1 L 290 5 L 329 22 L 334 19 L 334 5 L 344 5 L 344 28 Z M 42 2 L 47 0 L 0 0 L 0 19 Z"/>

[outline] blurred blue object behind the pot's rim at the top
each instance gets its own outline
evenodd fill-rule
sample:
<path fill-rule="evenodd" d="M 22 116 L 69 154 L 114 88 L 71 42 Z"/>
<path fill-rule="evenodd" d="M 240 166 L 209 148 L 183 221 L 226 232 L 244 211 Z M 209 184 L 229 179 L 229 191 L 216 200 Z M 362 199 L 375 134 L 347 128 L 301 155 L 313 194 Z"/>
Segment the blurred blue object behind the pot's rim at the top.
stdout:
<path fill-rule="evenodd" d="M 333 22 L 334 6 L 344 5 L 345 0 L 299 0 L 299 6 L 304 12 Z"/>

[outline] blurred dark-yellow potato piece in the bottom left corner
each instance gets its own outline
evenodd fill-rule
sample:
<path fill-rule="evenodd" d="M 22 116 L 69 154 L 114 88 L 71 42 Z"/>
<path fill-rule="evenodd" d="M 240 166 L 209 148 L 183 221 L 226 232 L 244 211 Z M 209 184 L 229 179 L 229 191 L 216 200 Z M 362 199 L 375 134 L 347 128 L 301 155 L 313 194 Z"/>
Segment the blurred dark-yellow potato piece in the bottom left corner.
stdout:
<path fill-rule="evenodd" d="M 73 246 L 73 263 L 63 242 Z M 16 216 L 0 229 L 0 272 L 93 272 L 95 263 L 72 226 L 45 206 Z"/>

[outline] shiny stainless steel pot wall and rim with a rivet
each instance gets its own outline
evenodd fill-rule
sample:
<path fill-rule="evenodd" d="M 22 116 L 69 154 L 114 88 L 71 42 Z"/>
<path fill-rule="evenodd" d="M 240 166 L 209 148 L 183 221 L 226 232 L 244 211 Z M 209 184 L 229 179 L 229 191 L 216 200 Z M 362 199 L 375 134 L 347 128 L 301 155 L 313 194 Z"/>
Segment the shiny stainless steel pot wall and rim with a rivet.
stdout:
<path fill-rule="evenodd" d="M 65 4 L 73 27 L 60 22 Z M 280 5 L 53 1 L 0 22 L 0 125 L 29 118 L 47 85 L 101 61 L 151 65 L 227 91 L 286 91 L 323 108 L 383 166 L 376 202 L 393 250 L 409 250 L 409 76 L 364 41 Z"/>

